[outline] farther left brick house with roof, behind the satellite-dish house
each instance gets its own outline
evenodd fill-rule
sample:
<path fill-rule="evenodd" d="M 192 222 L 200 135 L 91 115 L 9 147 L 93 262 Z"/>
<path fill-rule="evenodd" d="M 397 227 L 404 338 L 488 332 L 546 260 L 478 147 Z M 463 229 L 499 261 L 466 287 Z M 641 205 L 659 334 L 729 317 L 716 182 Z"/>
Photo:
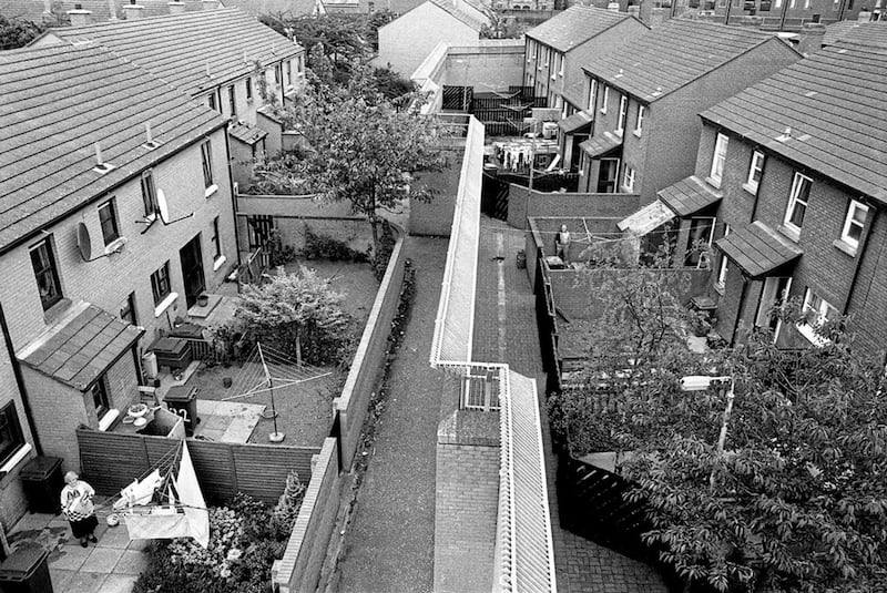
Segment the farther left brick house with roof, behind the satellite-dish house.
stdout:
<path fill-rule="evenodd" d="M 254 17 L 218 9 L 128 19 L 53 29 L 32 45 L 84 42 L 131 60 L 228 117 L 236 182 L 248 181 L 251 170 L 243 163 L 259 152 L 279 150 L 283 129 L 263 109 L 263 88 L 278 104 L 296 92 L 305 50 Z"/>

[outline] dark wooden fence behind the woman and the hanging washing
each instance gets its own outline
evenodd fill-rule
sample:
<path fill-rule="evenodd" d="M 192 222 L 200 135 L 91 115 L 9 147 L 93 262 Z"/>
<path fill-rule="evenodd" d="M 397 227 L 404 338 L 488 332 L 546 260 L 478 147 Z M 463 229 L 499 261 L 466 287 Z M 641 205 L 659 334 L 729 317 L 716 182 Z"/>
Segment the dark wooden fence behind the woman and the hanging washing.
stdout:
<path fill-rule="evenodd" d="M 169 459 L 179 440 L 142 434 L 120 434 L 79 429 L 80 468 L 99 494 L 114 495 L 152 467 Z M 299 480 L 312 478 L 312 458 L 318 447 L 285 447 L 211 442 L 187 439 L 197 480 L 208 503 L 231 500 L 237 492 L 275 503 L 286 477 L 297 471 Z"/>

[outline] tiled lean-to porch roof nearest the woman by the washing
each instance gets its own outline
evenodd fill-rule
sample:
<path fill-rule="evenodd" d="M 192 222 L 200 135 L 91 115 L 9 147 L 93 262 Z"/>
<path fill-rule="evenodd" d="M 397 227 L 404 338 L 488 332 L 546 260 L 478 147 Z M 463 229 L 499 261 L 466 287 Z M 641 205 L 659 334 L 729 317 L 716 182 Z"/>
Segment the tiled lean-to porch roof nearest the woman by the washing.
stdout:
<path fill-rule="evenodd" d="M 94 305 L 78 303 L 18 357 L 32 369 L 85 391 L 144 331 Z"/>

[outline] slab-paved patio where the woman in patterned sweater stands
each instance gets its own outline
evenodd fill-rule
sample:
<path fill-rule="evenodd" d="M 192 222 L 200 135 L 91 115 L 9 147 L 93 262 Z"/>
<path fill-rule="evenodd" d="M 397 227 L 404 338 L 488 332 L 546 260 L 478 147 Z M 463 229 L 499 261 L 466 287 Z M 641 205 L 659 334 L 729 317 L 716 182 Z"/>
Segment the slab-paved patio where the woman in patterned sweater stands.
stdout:
<path fill-rule="evenodd" d="M 131 542 L 126 528 L 109 528 L 103 515 L 95 536 L 99 543 L 82 548 L 62 515 L 33 513 L 22 517 L 8 539 L 13 549 L 39 545 L 49 550 L 54 593 L 131 592 L 147 564 L 143 550 L 149 542 Z"/>

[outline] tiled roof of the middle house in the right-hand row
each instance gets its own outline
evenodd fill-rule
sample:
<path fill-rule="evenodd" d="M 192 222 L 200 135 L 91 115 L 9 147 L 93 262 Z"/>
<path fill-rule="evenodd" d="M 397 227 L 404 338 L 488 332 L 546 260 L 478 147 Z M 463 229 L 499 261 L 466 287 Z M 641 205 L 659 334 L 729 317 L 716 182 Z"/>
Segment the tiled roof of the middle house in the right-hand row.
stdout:
<path fill-rule="evenodd" d="M 652 102 L 767 42 L 783 43 L 753 29 L 672 19 L 631 43 L 595 54 L 583 70 Z"/>

